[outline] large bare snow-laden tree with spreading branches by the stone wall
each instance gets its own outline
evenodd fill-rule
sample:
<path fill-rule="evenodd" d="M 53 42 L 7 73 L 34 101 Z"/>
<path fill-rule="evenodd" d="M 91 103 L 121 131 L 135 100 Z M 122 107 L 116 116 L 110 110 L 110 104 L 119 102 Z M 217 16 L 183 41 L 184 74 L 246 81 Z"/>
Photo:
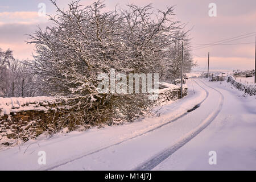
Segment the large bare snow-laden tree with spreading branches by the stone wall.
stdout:
<path fill-rule="evenodd" d="M 56 6 L 52 26 L 30 35 L 36 46 L 32 67 L 44 90 L 67 102 L 64 124 L 131 121 L 150 106 L 146 94 L 99 93 L 100 73 L 162 73 L 167 70 L 166 47 L 175 39 L 179 22 L 172 22 L 173 7 L 156 14 L 151 5 L 104 11 L 101 1 L 68 10 Z M 128 85 L 127 85 L 128 86 Z"/>

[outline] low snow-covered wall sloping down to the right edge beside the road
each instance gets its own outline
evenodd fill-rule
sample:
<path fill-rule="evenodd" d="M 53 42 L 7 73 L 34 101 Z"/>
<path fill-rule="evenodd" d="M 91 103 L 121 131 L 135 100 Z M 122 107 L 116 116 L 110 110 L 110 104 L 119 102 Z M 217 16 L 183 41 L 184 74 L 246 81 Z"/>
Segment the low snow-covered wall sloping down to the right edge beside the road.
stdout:
<path fill-rule="evenodd" d="M 227 82 L 230 82 L 234 87 L 238 90 L 244 91 L 245 93 L 249 94 L 250 96 L 256 95 L 256 85 L 244 85 L 241 82 L 237 82 L 234 80 L 232 76 L 228 76 Z"/>

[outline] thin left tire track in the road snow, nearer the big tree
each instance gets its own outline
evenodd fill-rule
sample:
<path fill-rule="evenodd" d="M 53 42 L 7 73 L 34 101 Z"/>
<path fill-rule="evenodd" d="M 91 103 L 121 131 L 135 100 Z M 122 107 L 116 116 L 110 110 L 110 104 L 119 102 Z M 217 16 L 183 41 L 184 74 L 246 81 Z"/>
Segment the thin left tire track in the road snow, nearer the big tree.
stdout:
<path fill-rule="evenodd" d="M 195 80 L 193 80 L 193 81 L 195 81 Z M 196 82 L 196 81 L 195 81 L 195 82 Z M 197 82 L 196 82 L 196 84 L 199 85 Z M 200 85 L 199 85 L 199 86 L 200 86 Z M 207 98 L 208 98 L 208 96 L 209 96 L 208 90 L 206 90 L 206 89 L 203 88 L 202 86 L 200 86 L 200 88 L 202 88 L 202 89 L 205 91 L 206 96 L 205 96 L 205 98 L 204 98 L 203 101 L 199 102 L 199 104 L 196 104 L 196 105 L 201 105 L 205 100 L 207 100 Z M 125 139 L 125 140 L 122 140 L 121 142 L 117 142 L 117 143 L 111 144 L 110 146 L 106 146 L 106 147 L 100 148 L 100 149 L 98 149 L 98 150 L 96 150 L 96 151 L 89 152 L 88 154 L 81 155 L 81 156 L 79 156 L 79 157 L 77 157 L 77 158 L 74 158 L 74 159 L 71 159 L 71 160 L 67 160 L 66 162 L 63 162 L 63 163 L 60 163 L 60 164 L 57 164 L 57 165 L 55 165 L 55 166 L 48 167 L 48 168 L 42 169 L 42 170 L 49 171 L 49 170 L 55 169 L 55 168 L 57 168 L 57 167 L 63 166 L 63 165 L 65 165 L 65 164 L 71 163 L 71 162 L 73 162 L 73 161 L 75 161 L 75 160 L 82 159 L 82 158 L 84 158 L 84 157 L 86 157 L 86 156 L 88 156 L 88 155 L 92 155 L 92 154 L 95 154 L 95 153 L 100 152 L 100 151 L 102 151 L 102 150 L 106 150 L 106 149 L 108 149 L 108 148 L 110 148 L 110 147 L 117 146 L 118 144 L 121 144 L 121 143 L 126 142 L 126 141 L 128 141 L 128 140 L 131 140 L 131 139 L 134 139 L 134 138 L 137 138 L 137 137 L 141 137 L 141 136 L 144 135 L 144 134 L 150 133 L 150 132 L 152 132 L 152 131 L 154 131 L 154 130 L 159 129 L 160 127 L 163 127 L 163 126 L 166 126 L 166 125 L 168 125 L 168 124 L 170 124 L 170 123 L 172 123 L 172 122 L 175 122 L 175 121 L 177 121 L 177 119 L 180 119 L 180 118 L 184 117 L 184 116 L 187 115 L 187 114 L 189 114 L 189 112 L 185 111 L 185 113 L 181 114 L 179 117 L 176 117 L 176 118 L 174 118 L 174 119 L 171 119 L 170 121 L 168 121 L 168 122 L 166 122 L 166 123 L 163 123 L 162 125 L 159 125 L 159 126 L 153 128 L 153 129 L 150 129 L 150 130 L 148 130 L 148 131 L 146 131 L 146 132 L 144 132 L 144 133 L 138 134 L 138 135 L 136 135 L 136 136 L 134 136 L 134 137 L 131 137 L 131 138 L 127 138 L 127 139 Z"/>

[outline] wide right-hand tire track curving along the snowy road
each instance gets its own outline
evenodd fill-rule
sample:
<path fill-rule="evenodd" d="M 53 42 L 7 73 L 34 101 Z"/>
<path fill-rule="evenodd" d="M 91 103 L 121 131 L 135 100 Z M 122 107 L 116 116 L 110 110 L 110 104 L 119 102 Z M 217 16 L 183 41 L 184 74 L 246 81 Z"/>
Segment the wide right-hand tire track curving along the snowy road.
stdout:
<path fill-rule="evenodd" d="M 201 82 L 203 82 L 203 81 L 201 81 Z M 195 129 L 193 129 L 192 131 L 187 133 L 184 137 L 180 138 L 176 142 L 176 144 L 174 144 L 172 147 L 167 148 L 163 152 L 160 152 L 159 154 L 155 155 L 154 157 L 152 157 L 151 159 L 142 163 L 141 165 L 139 165 L 138 167 L 136 167 L 133 170 L 135 170 L 135 171 L 150 171 L 151 169 L 155 168 L 156 166 L 158 166 L 158 164 L 162 163 L 169 156 L 174 154 L 175 151 L 177 151 L 177 150 L 179 150 L 179 148 L 183 147 L 184 144 L 188 143 L 191 139 L 196 137 L 196 135 L 198 135 L 201 131 L 203 131 L 217 117 L 218 113 L 220 113 L 220 111 L 222 109 L 222 105 L 224 102 L 224 96 L 217 89 L 212 88 L 211 86 L 205 84 L 204 82 L 203 82 L 203 84 L 208 86 L 209 88 L 215 90 L 216 92 L 218 92 L 220 94 L 217 109 L 214 110 L 213 113 L 211 113 L 206 119 L 204 119 L 204 121 L 199 126 L 197 126 Z"/>

